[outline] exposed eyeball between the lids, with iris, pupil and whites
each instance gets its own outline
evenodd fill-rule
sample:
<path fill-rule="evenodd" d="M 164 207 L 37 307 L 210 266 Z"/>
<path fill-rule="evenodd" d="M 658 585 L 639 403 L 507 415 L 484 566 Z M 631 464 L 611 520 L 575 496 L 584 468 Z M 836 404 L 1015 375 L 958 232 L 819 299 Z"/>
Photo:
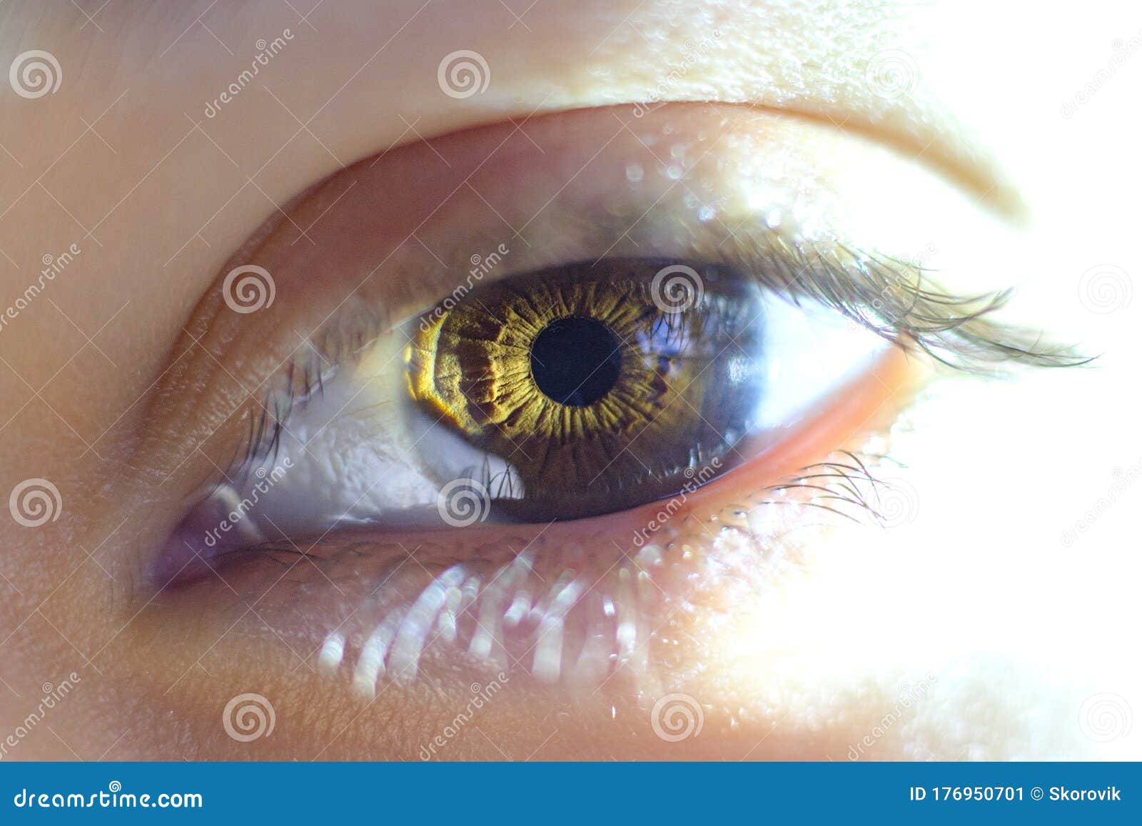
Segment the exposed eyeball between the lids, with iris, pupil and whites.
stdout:
<path fill-rule="evenodd" d="M 676 272 L 689 291 L 671 305 L 656 278 Z M 659 259 L 512 276 L 431 318 L 283 400 L 288 428 L 188 520 L 244 500 L 241 530 L 184 538 L 226 548 L 625 511 L 749 462 L 888 346 L 755 276 Z"/>

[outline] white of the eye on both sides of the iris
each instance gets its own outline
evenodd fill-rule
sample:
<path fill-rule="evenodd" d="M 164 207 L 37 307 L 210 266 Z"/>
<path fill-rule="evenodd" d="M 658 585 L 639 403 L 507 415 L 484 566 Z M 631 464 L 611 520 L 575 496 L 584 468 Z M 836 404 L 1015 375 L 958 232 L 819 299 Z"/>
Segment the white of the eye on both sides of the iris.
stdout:
<path fill-rule="evenodd" d="M 841 313 L 812 300 L 795 305 L 763 294 L 764 392 L 755 435 L 780 441 L 821 401 L 856 378 L 891 346 Z M 381 339 L 361 361 L 324 383 L 324 392 L 289 416 L 279 450 L 249 473 L 233 500 L 250 503 L 247 519 L 268 539 L 317 535 L 330 527 L 447 527 L 440 498 L 455 479 L 510 472 L 499 457 L 467 444 L 448 427 L 411 409 L 400 358 L 403 336 Z M 748 366 L 749 359 L 742 359 Z M 745 367 L 742 368 L 745 369 Z M 260 482 L 268 490 L 252 490 Z M 518 495 L 518 491 L 515 491 Z M 501 496 L 492 490 L 491 496 Z"/>

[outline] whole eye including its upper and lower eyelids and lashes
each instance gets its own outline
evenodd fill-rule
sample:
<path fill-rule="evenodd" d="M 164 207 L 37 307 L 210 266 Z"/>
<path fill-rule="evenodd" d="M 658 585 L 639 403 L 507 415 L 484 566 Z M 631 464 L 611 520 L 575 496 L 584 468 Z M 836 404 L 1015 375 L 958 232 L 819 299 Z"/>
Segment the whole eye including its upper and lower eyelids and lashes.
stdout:
<path fill-rule="evenodd" d="M 284 641 L 354 714 L 477 677 L 617 705 L 686 685 L 715 629 L 749 633 L 735 606 L 877 520 L 931 370 L 1072 361 L 933 278 L 994 230 L 901 166 L 673 105 L 336 174 L 226 263 L 156 388 L 137 462 L 186 496 L 144 592 L 168 627 Z"/>

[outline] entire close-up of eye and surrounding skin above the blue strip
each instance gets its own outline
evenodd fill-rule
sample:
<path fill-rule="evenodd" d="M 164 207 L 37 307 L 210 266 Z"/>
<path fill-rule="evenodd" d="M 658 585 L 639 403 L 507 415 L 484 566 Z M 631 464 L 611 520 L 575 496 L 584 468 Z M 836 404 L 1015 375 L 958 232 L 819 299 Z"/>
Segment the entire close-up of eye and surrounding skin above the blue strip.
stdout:
<path fill-rule="evenodd" d="M 1128 751 L 1128 21 L 529 3 L 3 7 L 0 757 Z"/>

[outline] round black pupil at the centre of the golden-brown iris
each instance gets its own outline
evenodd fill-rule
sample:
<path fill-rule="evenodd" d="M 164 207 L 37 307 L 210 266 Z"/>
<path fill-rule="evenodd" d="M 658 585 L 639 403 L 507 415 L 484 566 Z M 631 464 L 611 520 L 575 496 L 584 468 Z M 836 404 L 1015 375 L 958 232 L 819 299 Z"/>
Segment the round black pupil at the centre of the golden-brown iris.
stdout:
<path fill-rule="evenodd" d="M 536 385 L 561 404 L 594 404 L 619 379 L 621 362 L 614 334 L 595 319 L 553 321 L 531 343 Z"/>

